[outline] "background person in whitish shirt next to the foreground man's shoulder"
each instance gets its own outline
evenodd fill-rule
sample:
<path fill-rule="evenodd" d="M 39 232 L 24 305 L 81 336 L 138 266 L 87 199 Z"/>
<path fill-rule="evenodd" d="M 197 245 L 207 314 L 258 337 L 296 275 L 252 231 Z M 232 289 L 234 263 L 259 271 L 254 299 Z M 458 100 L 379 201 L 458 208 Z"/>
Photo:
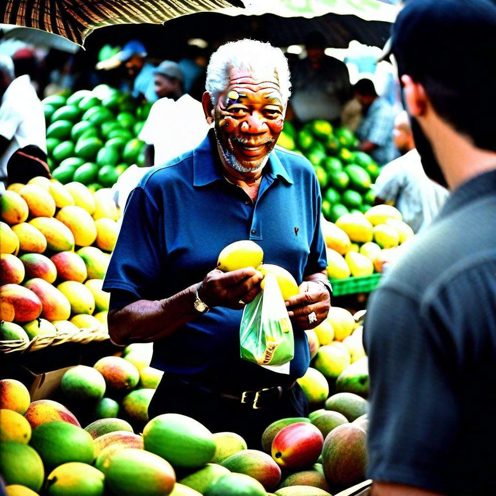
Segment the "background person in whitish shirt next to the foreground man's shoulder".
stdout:
<path fill-rule="evenodd" d="M 395 205 L 403 220 L 417 233 L 434 219 L 449 192 L 424 172 L 406 112 L 396 116 L 393 134 L 401 157 L 382 168 L 372 186 L 375 203 Z"/>

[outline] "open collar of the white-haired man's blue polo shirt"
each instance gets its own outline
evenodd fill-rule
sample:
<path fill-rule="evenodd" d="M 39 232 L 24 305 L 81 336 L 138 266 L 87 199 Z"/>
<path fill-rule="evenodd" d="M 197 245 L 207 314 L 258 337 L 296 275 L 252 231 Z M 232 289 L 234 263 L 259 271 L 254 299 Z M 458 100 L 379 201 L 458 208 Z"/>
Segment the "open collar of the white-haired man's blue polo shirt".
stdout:
<path fill-rule="evenodd" d="M 214 129 L 209 129 L 205 139 L 193 150 L 193 186 L 206 186 L 219 179 L 224 180 L 221 173 L 221 162 L 217 150 Z M 282 165 L 279 157 L 272 150 L 269 160 L 264 168 L 265 174 L 272 179 L 283 178 L 289 184 L 293 184 L 292 177 Z"/>

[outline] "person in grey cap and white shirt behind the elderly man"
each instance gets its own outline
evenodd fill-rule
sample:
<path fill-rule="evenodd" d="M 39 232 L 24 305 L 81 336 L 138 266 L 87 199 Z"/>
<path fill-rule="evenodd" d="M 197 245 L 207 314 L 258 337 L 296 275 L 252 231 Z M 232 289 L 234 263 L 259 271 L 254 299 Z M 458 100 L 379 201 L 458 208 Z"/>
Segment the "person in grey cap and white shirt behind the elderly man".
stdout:
<path fill-rule="evenodd" d="M 146 143 L 145 167 L 128 167 L 112 187 L 114 200 L 121 208 L 149 167 L 163 165 L 192 150 L 208 132 L 201 102 L 184 93 L 183 73 L 176 62 L 161 62 L 154 80 L 159 100 L 152 105 L 139 133 L 139 139 Z"/>

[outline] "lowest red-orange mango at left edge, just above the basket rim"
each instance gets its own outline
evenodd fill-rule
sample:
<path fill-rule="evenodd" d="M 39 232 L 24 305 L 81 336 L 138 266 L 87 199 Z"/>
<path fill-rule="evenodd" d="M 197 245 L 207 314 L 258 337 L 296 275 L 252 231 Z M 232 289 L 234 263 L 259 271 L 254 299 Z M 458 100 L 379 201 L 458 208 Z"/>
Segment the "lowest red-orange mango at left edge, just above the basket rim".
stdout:
<path fill-rule="evenodd" d="M 29 322 L 37 318 L 41 310 L 42 302 L 33 291 L 17 284 L 0 287 L 0 320 Z"/>

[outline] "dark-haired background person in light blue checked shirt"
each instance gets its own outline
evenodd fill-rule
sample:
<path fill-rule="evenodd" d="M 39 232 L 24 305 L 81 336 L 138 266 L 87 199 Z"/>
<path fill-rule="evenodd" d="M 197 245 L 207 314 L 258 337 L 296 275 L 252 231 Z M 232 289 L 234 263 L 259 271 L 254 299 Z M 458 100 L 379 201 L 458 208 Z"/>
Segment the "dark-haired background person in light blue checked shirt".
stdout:
<path fill-rule="evenodd" d="M 362 121 L 356 130 L 360 150 L 368 153 L 378 165 L 394 159 L 394 113 L 391 105 L 375 92 L 370 79 L 360 79 L 353 87 L 362 105 Z"/>

